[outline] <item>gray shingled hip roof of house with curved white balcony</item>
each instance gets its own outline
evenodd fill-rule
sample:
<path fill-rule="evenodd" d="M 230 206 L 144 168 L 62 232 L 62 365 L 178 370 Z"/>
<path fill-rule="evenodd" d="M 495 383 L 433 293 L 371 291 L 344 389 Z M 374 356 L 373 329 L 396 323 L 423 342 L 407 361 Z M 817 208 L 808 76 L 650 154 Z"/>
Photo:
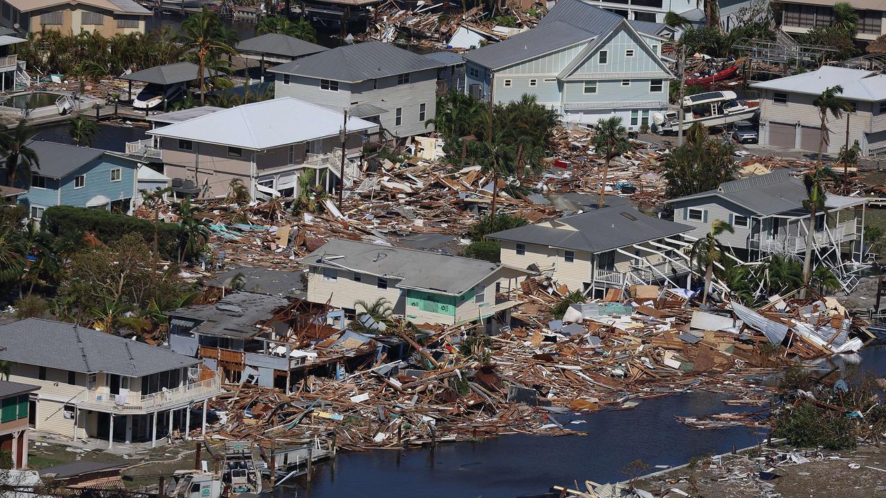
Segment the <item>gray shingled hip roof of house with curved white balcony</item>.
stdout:
<path fill-rule="evenodd" d="M 198 362 L 162 347 L 78 327 L 27 318 L 0 325 L 0 360 L 83 373 L 144 377 Z"/>

